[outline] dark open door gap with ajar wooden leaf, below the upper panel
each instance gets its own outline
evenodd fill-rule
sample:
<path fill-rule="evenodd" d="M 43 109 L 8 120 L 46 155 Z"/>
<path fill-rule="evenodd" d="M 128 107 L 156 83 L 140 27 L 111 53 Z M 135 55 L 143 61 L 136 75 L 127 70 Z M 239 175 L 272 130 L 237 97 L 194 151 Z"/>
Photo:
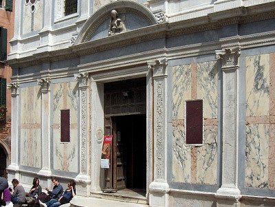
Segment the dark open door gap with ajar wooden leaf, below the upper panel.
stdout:
<path fill-rule="evenodd" d="M 115 116 L 111 153 L 113 188 L 146 188 L 146 116 Z"/>

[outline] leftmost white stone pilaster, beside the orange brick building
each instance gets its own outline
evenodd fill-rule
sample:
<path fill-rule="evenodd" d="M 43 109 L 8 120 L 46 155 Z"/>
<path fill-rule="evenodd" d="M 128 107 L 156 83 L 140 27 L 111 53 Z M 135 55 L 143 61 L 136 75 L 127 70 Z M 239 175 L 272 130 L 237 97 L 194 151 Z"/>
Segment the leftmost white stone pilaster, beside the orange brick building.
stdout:
<path fill-rule="evenodd" d="M 11 162 L 8 166 L 10 171 L 19 170 L 19 83 L 10 83 L 8 88 L 12 94 L 12 126 L 11 126 Z"/>

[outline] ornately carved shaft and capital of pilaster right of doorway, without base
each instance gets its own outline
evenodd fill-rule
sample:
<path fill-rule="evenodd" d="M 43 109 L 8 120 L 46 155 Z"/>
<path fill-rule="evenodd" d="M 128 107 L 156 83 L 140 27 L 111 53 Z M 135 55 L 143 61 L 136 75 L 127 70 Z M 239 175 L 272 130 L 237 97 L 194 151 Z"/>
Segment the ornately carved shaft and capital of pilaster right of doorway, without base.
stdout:
<path fill-rule="evenodd" d="M 155 99 L 155 179 L 165 179 L 165 116 L 166 116 L 166 65 L 167 60 L 156 60 L 148 63 L 148 68 L 153 69 L 154 99 Z"/>

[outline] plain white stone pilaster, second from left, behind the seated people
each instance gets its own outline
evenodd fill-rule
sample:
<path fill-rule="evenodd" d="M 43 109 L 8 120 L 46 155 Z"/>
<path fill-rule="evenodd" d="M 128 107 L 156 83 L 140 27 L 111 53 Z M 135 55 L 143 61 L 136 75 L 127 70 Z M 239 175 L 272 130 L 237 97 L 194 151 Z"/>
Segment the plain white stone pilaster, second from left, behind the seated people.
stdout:
<path fill-rule="evenodd" d="M 37 80 L 41 85 L 41 140 L 43 149 L 41 175 L 52 175 L 51 171 L 51 135 L 50 135 L 50 78 Z"/>

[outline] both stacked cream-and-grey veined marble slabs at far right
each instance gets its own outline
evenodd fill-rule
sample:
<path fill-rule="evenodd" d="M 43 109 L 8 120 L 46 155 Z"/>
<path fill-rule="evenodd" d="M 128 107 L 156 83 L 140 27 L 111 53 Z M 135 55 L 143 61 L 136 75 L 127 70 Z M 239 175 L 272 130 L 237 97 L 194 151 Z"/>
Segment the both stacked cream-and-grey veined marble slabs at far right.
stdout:
<path fill-rule="evenodd" d="M 246 63 L 246 116 L 254 123 L 246 125 L 245 186 L 267 188 L 270 124 L 270 54 L 248 56 Z M 247 119 L 248 119 L 247 118 Z"/>

